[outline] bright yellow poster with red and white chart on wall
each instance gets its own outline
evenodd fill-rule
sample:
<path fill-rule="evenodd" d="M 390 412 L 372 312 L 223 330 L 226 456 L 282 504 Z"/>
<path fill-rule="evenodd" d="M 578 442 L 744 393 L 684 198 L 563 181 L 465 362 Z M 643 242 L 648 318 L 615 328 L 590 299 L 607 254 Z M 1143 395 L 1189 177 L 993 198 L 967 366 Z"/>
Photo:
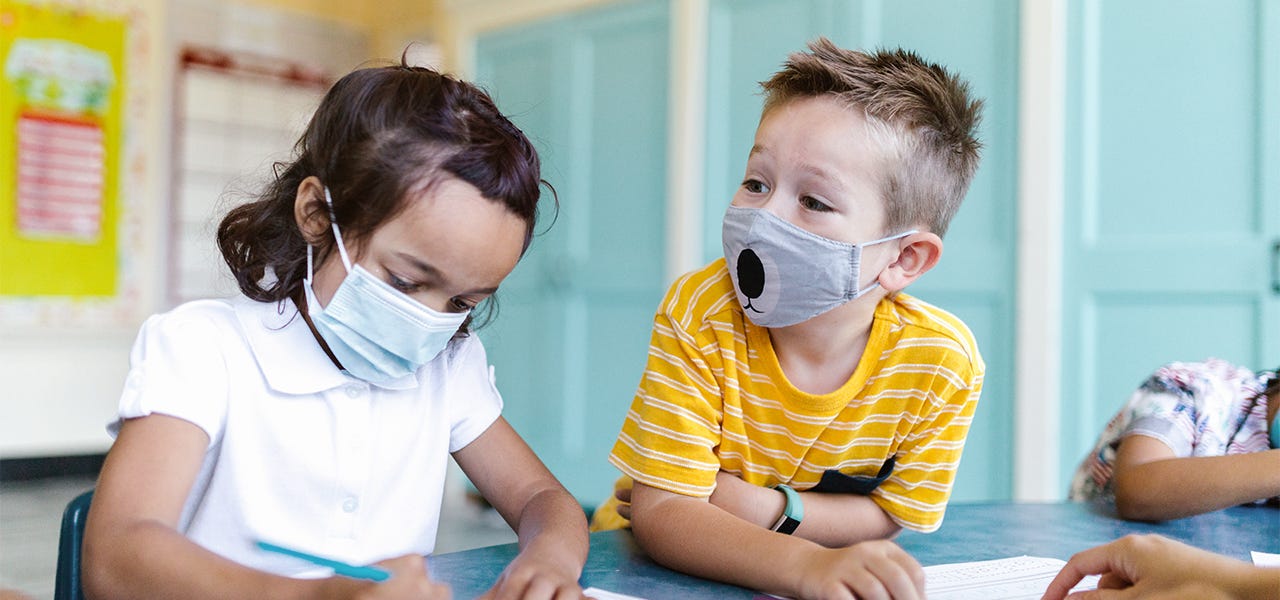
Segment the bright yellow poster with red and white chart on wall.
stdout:
<path fill-rule="evenodd" d="M 116 293 L 125 31 L 0 0 L 0 296 Z"/>

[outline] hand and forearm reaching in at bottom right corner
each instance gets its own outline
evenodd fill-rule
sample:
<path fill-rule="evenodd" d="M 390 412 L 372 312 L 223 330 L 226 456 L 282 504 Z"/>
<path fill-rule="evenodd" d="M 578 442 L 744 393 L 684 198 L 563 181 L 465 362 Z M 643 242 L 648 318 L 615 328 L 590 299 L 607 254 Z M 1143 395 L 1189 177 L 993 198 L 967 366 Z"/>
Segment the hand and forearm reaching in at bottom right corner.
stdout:
<path fill-rule="evenodd" d="M 1097 591 L 1074 599 L 1151 597 L 1274 600 L 1280 569 L 1253 567 L 1157 535 L 1125 536 L 1071 557 L 1043 600 L 1062 600 L 1085 576 Z"/>

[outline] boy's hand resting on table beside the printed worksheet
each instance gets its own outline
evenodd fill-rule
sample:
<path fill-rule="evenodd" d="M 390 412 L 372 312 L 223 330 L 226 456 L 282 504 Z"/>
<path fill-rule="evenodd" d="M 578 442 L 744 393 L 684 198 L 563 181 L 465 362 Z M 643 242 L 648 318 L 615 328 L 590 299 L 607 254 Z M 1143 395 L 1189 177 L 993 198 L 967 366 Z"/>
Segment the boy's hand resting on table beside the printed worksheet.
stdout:
<path fill-rule="evenodd" d="M 800 558 L 794 586 L 803 599 L 920 600 L 924 569 L 887 540 L 820 548 Z"/>

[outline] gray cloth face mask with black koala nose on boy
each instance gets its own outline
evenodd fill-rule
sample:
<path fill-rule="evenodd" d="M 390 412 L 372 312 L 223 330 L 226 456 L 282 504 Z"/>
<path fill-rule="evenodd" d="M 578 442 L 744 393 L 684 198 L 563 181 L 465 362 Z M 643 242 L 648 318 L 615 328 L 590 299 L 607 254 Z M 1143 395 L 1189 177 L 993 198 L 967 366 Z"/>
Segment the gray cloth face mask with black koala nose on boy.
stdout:
<path fill-rule="evenodd" d="M 730 206 L 721 239 L 737 301 L 751 322 L 786 328 L 876 289 L 859 289 L 863 248 L 897 235 L 850 244 L 806 232 L 764 209 Z"/>

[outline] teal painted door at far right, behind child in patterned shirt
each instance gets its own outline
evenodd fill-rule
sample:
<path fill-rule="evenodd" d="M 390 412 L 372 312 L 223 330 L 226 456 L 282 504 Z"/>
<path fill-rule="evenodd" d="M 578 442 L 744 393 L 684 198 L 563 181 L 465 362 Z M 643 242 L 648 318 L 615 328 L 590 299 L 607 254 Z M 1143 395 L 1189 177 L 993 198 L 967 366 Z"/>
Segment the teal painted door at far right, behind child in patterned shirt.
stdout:
<path fill-rule="evenodd" d="M 1280 3 L 1069 3 L 1062 490 L 1160 365 L 1280 363 Z"/>

